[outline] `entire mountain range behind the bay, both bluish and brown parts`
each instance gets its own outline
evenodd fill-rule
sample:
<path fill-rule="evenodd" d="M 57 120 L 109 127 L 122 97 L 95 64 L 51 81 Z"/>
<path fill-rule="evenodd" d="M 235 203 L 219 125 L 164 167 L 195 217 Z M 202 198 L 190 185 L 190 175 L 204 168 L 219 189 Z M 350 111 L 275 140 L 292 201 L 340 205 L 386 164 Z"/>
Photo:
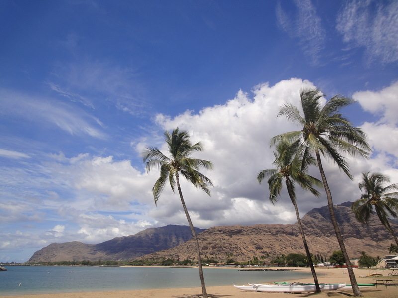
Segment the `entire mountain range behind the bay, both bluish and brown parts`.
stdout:
<path fill-rule="evenodd" d="M 361 251 L 371 256 L 389 254 L 393 243 L 391 234 L 372 216 L 369 225 L 360 224 L 351 211 L 350 203 L 335 207 L 336 217 L 350 257 L 359 257 Z M 327 206 L 314 208 L 303 218 L 302 224 L 312 254 L 329 256 L 340 250 L 330 222 Z M 391 222 L 393 230 L 398 224 Z M 253 226 L 217 226 L 197 229 L 201 253 L 204 257 L 225 262 L 248 261 L 269 254 L 305 253 L 297 224 L 257 224 Z M 72 260 L 132 260 L 141 258 L 197 259 L 195 243 L 187 226 L 150 228 L 136 235 L 115 238 L 100 244 L 80 242 L 53 243 L 37 252 L 29 262 Z M 191 239 L 191 240 L 190 240 Z"/>

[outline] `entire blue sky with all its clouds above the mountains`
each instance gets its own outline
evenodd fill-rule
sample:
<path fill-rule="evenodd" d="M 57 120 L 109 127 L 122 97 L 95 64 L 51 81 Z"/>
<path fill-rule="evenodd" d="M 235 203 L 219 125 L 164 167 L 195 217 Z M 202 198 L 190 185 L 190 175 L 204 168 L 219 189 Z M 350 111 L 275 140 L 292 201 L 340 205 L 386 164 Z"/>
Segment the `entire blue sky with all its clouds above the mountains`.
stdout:
<path fill-rule="evenodd" d="M 325 161 L 335 203 L 361 172 L 398 181 L 397 1 L 3 0 L 0 28 L 0 261 L 186 225 L 141 158 L 177 126 L 214 163 L 211 197 L 182 186 L 196 226 L 294 223 L 255 178 L 304 87 L 357 100 L 344 112 L 373 149 L 354 181 Z M 301 215 L 326 205 L 298 193 Z"/>

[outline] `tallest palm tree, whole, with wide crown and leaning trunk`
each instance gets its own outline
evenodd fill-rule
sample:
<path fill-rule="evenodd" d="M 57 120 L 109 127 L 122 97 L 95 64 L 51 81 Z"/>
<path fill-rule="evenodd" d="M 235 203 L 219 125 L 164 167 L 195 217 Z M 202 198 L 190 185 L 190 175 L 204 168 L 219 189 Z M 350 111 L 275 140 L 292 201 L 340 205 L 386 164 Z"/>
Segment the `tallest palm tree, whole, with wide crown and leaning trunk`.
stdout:
<path fill-rule="evenodd" d="M 352 179 L 347 161 L 339 153 L 339 150 L 350 153 L 353 157 L 367 157 L 370 147 L 366 142 L 366 136 L 362 130 L 352 126 L 340 113 L 341 108 L 355 101 L 336 95 L 321 107 L 320 99 L 323 96 L 324 95 L 318 89 L 301 90 L 300 98 L 303 115 L 301 115 L 296 106 L 292 104 L 283 105 L 278 116 L 285 115 L 289 120 L 301 126 L 302 130 L 275 136 L 271 144 L 275 144 L 281 140 L 291 143 L 292 148 L 296 150 L 295 158 L 302 160 L 304 167 L 307 160 L 312 158 L 313 154 L 315 154 L 326 193 L 330 218 L 336 233 L 337 241 L 347 264 L 354 296 L 362 296 L 355 279 L 354 271 L 352 270 L 343 237 L 341 236 L 340 227 L 337 224 L 332 193 L 327 183 L 320 155 L 322 154 L 333 160 L 338 167 Z"/>

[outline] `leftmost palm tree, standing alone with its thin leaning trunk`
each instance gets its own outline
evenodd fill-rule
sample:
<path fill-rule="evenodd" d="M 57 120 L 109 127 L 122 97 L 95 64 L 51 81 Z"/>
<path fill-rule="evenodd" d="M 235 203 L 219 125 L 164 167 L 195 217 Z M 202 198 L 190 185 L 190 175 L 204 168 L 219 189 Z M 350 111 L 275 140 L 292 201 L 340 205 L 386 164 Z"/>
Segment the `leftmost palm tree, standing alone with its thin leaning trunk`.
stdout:
<path fill-rule="evenodd" d="M 204 284 L 202 261 L 200 257 L 199 242 L 194 229 L 194 225 L 191 221 L 191 217 L 188 213 L 187 206 L 185 205 L 183 193 L 180 187 L 179 175 L 181 173 L 181 175 L 185 177 L 188 181 L 190 181 L 195 187 L 201 188 L 208 195 L 210 195 L 209 186 L 212 186 L 213 184 L 209 178 L 204 176 L 198 170 L 200 168 L 211 169 L 212 163 L 207 160 L 194 159 L 191 157 L 192 153 L 196 151 L 202 151 L 203 147 L 200 142 L 192 144 L 187 131 L 180 131 L 179 128 L 176 128 L 172 131 L 172 133 L 166 131 L 164 135 L 170 157 L 164 155 L 156 147 L 147 147 L 146 150 L 142 153 L 144 162 L 146 162 L 146 169 L 148 172 L 153 168 L 160 169 L 160 177 L 155 182 L 155 185 L 152 188 L 153 197 L 155 199 L 155 204 L 157 205 L 159 196 L 164 190 L 167 181 L 169 181 L 173 191 L 177 184 L 181 203 L 183 205 L 183 209 L 187 217 L 188 224 L 190 226 L 198 253 L 199 277 L 203 297 L 207 298 L 206 286 Z"/>

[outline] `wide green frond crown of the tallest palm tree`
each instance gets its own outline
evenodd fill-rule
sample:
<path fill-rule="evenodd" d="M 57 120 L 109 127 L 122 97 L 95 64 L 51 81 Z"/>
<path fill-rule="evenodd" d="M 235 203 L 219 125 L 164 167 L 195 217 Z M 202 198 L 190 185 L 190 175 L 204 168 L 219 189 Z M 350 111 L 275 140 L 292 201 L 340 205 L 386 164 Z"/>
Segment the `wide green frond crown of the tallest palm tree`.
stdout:
<path fill-rule="evenodd" d="M 348 121 L 340 110 L 355 103 L 354 100 L 340 95 L 332 97 L 321 107 L 320 100 L 324 97 L 318 89 L 300 90 L 303 116 L 292 104 L 285 104 L 278 116 L 285 115 L 289 120 L 303 126 L 302 131 L 280 134 L 271 139 L 270 145 L 287 142 L 296 150 L 292 162 L 297 169 L 301 162 L 301 170 L 305 172 L 309 165 L 315 164 L 313 153 L 319 152 L 343 170 L 352 179 L 348 163 L 340 154 L 350 153 L 353 157 L 368 157 L 370 146 L 366 134 Z"/>

